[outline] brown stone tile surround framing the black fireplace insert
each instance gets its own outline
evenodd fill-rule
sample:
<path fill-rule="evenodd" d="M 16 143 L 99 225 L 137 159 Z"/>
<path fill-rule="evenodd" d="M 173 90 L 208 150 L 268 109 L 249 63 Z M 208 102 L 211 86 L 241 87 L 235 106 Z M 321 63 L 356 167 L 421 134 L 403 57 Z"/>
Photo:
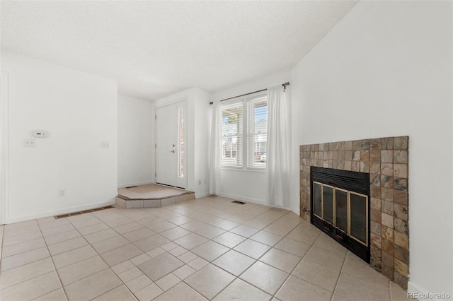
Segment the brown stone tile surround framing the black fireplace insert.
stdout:
<path fill-rule="evenodd" d="M 369 173 L 370 266 L 407 289 L 408 136 L 300 146 L 300 214 L 310 221 L 310 167 Z"/>

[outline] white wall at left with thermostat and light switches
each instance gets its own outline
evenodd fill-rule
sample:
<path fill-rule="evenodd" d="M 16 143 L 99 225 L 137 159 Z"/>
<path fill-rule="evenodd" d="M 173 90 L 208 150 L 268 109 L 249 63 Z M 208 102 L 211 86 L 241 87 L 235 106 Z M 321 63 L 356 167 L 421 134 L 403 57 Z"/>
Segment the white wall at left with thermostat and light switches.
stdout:
<path fill-rule="evenodd" d="M 6 223 L 114 203 L 115 81 L 4 49 L 1 70 L 9 77 Z M 25 148 L 35 129 L 50 136 Z"/>

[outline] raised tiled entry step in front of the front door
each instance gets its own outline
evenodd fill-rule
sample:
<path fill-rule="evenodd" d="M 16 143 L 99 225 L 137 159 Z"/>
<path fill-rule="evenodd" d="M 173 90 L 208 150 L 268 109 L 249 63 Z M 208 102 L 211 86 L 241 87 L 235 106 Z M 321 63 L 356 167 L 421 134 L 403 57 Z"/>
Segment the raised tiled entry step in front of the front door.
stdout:
<path fill-rule="evenodd" d="M 122 208 L 155 208 L 195 199 L 192 191 L 147 184 L 118 189 L 116 205 Z"/>

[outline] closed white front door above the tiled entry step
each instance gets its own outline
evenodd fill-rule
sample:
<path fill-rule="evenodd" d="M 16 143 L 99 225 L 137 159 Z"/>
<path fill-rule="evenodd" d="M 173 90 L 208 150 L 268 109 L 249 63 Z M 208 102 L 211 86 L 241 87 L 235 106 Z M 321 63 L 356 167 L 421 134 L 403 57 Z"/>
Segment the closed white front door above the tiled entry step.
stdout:
<path fill-rule="evenodd" d="M 185 102 L 156 110 L 156 183 L 186 188 Z"/>

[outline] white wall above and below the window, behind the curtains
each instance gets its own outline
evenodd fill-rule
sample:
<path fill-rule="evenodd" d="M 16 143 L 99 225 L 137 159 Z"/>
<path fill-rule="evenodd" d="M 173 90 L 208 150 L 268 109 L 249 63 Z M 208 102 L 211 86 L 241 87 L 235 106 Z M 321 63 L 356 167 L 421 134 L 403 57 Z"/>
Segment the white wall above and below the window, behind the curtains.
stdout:
<path fill-rule="evenodd" d="M 218 91 L 214 94 L 214 100 L 220 101 L 225 98 L 233 98 L 238 95 L 263 90 L 273 85 L 280 85 L 290 81 L 290 76 L 291 73 L 289 71 L 283 71 L 263 76 L 261 78 L 256 78 L 256 80 L 248 81 L 241 85 L 236 85 L 234 87 Z M 289 98 L 291 89 L 291 85 L 287 86 Z M 299 155 L 296 155 L 297 158 L 299 158 Z M 298 170 L 299 163 L 295 163 L 295 165 L 297 165 L 296 167 Z M 297 172 L 297 175 L 299 175 L 299 172 Z M 255 203 L 267 203 L 268 195 L 266 187 L 267 177 L 265 172 L 256 170 L 236 170 L 231 168 L 222 168 L 221 170 L 220 194 L 222 196 L 231 197 L 233 199 L 241 199 L 243 201 L 253 201 Z M 292 185 L 292 187 L 294 187 L 294 185 Z M 298 190 L 298 187 L 294 188 L 296 194 L 298 194 Z"/>

